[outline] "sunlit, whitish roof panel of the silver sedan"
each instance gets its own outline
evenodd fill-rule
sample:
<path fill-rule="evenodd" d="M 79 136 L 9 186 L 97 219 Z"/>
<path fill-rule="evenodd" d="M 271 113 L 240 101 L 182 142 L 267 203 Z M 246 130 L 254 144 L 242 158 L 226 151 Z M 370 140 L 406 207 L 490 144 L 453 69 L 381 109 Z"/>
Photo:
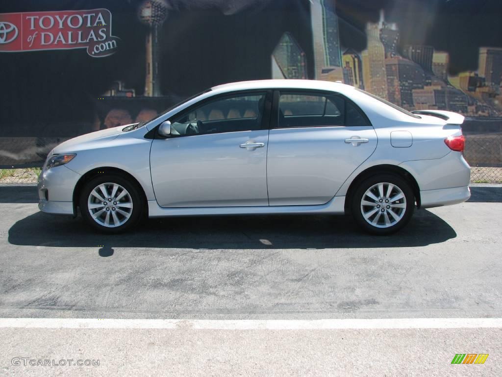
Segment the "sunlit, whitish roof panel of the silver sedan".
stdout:
<path fill-rule="evenodd" d="M 290 89 L 317 89 L 345 91 L 354 89 L 353 86 L 342 84 L 341 82 L 322 81 L 322 80 L 297 80 L 297 79 L 279 79 L 279 80 L 253 80 L 238 81 L 227 84 L 213 86 L 211 90 L 218 92 L 246 90 L 246 89 L 269 89 L 269 88 L 290 88 Z"/>

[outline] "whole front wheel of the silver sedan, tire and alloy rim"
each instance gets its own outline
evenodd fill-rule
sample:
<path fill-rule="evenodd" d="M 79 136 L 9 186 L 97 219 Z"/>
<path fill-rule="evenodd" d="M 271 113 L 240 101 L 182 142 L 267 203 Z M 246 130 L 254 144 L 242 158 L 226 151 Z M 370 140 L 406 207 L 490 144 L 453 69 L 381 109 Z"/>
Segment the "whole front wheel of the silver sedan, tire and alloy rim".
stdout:
<path fill-rule="evenodd" d="M 120 175 L 103 174 L 83 187 L 80 212 L 92 228 L 120 233 L 138 223 L 144 203 L 136 184 Z"/>

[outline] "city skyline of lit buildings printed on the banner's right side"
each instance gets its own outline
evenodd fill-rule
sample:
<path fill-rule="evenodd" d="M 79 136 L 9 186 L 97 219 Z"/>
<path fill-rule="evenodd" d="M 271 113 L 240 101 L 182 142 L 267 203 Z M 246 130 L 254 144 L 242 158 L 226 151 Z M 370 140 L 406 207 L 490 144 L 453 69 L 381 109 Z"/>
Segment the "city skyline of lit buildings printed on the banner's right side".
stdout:
<path fill-rule="evenodd" d="M 312 1 L 315 75 L 367 90 L 407 110 L 449 110 L 467 116 L 502 115 L 502 48 L 482 46 L 478 69 L 448 73 L 448 52 L 430 45 L 406 45 L 398 51 L 399 28 L 380 11 L 365 27 L 362 51 L 340 45 L 333 1 Z M 272 55 L 273 78 L 306 78 L 305 52 L 285 33 Z"/>

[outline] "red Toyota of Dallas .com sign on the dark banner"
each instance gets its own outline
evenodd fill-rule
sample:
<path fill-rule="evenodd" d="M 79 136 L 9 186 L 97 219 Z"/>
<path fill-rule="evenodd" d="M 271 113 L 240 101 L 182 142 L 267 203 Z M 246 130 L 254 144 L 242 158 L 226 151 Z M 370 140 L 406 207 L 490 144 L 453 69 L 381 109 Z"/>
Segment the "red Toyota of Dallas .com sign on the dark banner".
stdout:
<path fill-rule="evenodd" d="M 107 9 L 0 14 L 0 52 L 86 48 L 94 57 L 116 52 Z"/>

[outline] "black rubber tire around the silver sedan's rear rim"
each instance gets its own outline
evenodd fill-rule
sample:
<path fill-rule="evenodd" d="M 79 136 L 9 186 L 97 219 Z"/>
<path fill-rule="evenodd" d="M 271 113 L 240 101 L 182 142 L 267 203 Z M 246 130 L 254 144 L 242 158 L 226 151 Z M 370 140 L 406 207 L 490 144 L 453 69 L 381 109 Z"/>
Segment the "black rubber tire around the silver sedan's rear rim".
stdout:
<path fill-rule="evenodd" d="M 389 185 L 385 186 L 385 183 L 391 183 L 394 186 L 396 186 L 399 190 L 404 195 L 404 199 L 399 199 L 396 200 L 392 203 L 386 203 L 386 192 L 384 193 L 384 198 L 383 202 L 380 202 L 381 196 L 378 195 L 379 189 L 378 186 L 374 187 L 373 193 L 376 193 L 376 196 L 378 197 L 378 201 L 372 200 L 369 197 L 365 197 L 365 202 L 373 202 L 375 203 L 376 206 L 363 206 L 361 201 L 363 196 L 365 195 L 366 191 L 369 190 L 371 187 L 374 185 L 378 185 L 379 183 L 384 183 L 384 188 L 387 191 L 387 188 Z M 393 191 L 393 193 L 396 193 L 396 191 Z M 391 195 L 390 197 L 396 197 L 396 195 Z M 392 198 L 391 198 L 392 199 Z M 388 200 L 388 198 L 387 198 Z M 404 203 L 406 200 L 406 204 Z M 405 208 L 389 208 L 390 205 L 397 206 L 405 206 Z M 378 206 L 378 208 L 377 208 Z M 382 208 L 383 207 L 383 208 Z M 378 174 L 378 175 L 373 175 L 370 176 L 366 179 L 364 179 L 356 188 L 354 195 L 352 196 L 352 203 L 351 203 L 351 210 L 352 210 L 352 216 L 356 223 L 366 232 L 371 233 L 371 234 L 376 234 L 376 235 L 386 235 L 386 234 L 391 234 L 394 232 L 397 232 L 401 228 L 403 228 L 411 219 L 413 215 L 413 211 L 415 209 L 415 196 L 413 194 L 412 187 L 410 183 L 400 177 L 399 175 L 395 175 L 392 173 L 385 173 L 385 174 Z M 378 211 L 377 211 L 378 210 Z M 383 210 L 383 211 L 382 211 Z M 401 212 L 404 210 L 404 212 Z M 374 212 L 373 215 L 369 216 L 368 221 L 364 218 L 363 211 L 365 211 L 365 214 L 368 215 L 370 213 Z M 379 211 L 382 211 L 383 213 L 380 214 Z M 400 217 L 399 220 L 396 220 L 392 214 L 389 211 L 393 211 L 394 214 L 396 214 L 397 217 Z M 385 225 L 385 222 L 387 219 L 383 216 L 387 217 L 387 219 L 390 220 L 390 225 Z M 401 216 L 402 215 L 402 216 Z M 378 219 L 376 219 L 378 217 Z M 376 220 L 375 220 L 376 219 Z M 375 225 L 370 224 L 370 222 L 376 221 Z"/>

